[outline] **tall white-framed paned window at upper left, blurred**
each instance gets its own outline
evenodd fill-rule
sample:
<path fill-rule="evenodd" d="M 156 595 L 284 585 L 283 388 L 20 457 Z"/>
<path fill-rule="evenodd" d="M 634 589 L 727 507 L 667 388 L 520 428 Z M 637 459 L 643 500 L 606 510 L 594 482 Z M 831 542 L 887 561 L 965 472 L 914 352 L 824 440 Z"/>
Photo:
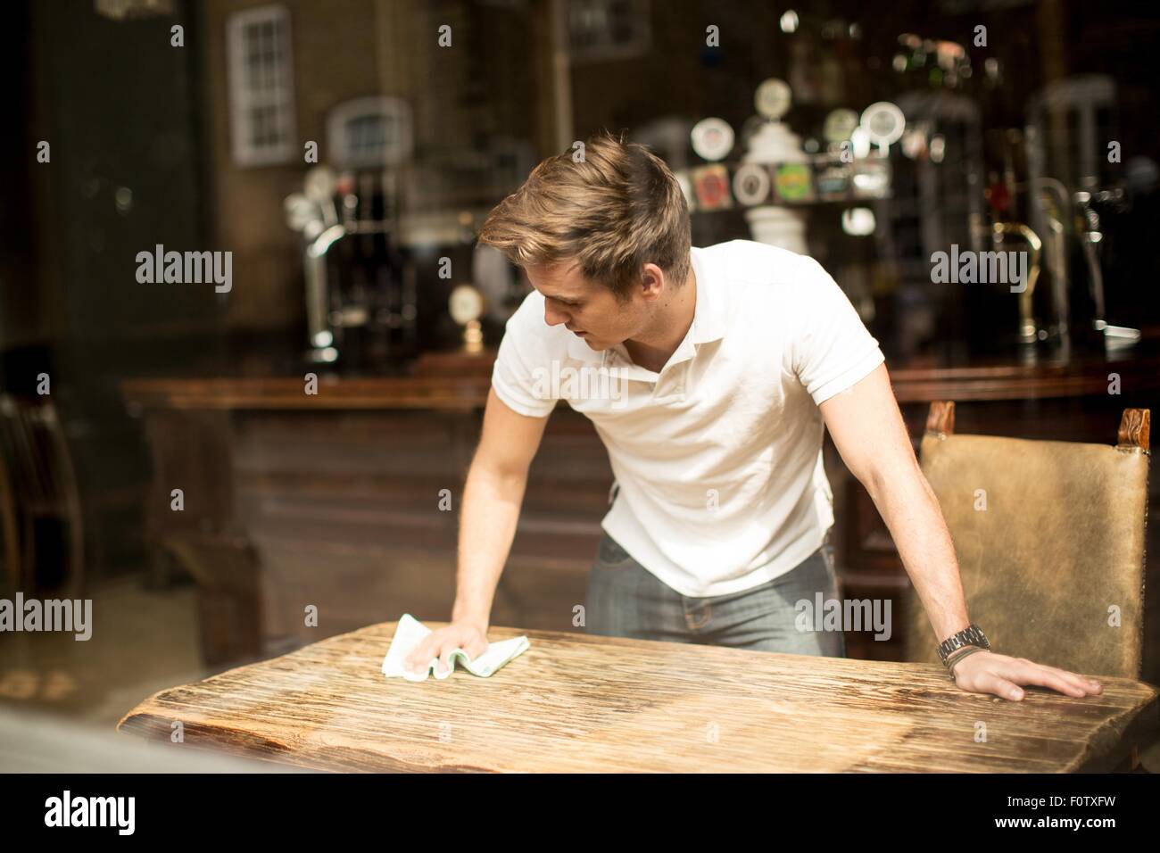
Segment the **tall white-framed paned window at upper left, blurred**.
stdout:
<path fill-rule="evenodd" d="M 287 162 L 296 153 L 290 13 L 262 6 L 226 22 L 230 122 L 239 166 Z"/>

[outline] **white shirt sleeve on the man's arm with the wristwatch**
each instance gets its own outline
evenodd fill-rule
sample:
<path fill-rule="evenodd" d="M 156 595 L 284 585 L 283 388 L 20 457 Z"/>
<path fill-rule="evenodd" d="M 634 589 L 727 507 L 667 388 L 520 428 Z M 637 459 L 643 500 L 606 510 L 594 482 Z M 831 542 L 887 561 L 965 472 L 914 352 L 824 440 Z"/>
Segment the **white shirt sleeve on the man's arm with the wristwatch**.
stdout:
<path fill-rule="evenodd" d="M 821 405 L 868 376 L 886 359 L 838 282 L 805 258 L 800 301 L 803 323 L 792 347 L 793 371 Z"/>

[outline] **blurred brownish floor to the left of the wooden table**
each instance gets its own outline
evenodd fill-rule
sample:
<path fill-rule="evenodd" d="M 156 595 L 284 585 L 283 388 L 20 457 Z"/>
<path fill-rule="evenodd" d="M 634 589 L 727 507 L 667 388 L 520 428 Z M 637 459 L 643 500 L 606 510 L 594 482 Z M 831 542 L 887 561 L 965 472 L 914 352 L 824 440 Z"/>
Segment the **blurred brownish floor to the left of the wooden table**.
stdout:
<path fill-rule="evenodd" d="M 60 632 L 14 632 L 0 638 L 0 713 L 22 713 L 21 718 L 37 724 L 42 720 L 55 720 L 58 725 L 67 722 L 78 731 L 123 738 L 114 729 L 137 702 L 217 671 L 201 662 L 191 585 L 148 590 L 142 579 L 130 577 L 104 584 L 93 598 L 100 606 L 94 607 L 93 634 L 86 642 Z M 0 725 L 0 754 L 14 754 L 13 744 L 3 740 L 19 737 L 13 732 L 21 730 Z M 59 738 L 45 735 L 44 740 Z M 103 743 L 108 750 L 113 740 Z M 28 759 L 28 750 L 21 758 Z M 24 766 L 79 767 L 73 753 L 59 765 L 52 760 L 39 757 L 35 764 L 24 760 Z M 1140 764 L 1147 772 L 1160 772 L 1160 739 L 1141 752 Z"/>

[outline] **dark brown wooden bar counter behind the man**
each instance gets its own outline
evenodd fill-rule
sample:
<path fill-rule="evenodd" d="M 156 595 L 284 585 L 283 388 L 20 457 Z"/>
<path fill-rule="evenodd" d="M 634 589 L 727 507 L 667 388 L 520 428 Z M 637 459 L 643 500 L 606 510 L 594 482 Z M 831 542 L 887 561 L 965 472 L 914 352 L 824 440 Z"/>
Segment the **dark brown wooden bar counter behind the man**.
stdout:
<path fill-rule="evenodd" d="M 415 375 L 137 379 L 153 460 L 148 540 L 200 586 L 202 646 L 229 665 L 396 619 L 450 616 L 459 499 L 490 388 L 491 355 L 435 357 Z M 911 435 L 931 399 L 957 404 L 959 432 L 1115 443 L 1124 407 L 1160 411 L 1160 359 L 1044 364 L 890 366 Z M 1109 393 L 1109 375 L 1119 395 Z M 865 490 L 826 441 L 840 594 L 892 599 L 909 583 Z M 493 623 L 572 630 L 612 474 L 592 425 L 560 404 L 529 475 Z M 1160 477 L 1152 477 L 1146 612 L 1160 636 Z M 171 509 L 173 489 L 184 509 Z M 441 498 L 442 496 L 442 498 Z M 443 500 L 445 498 L 445 500 Z M 441 504 L 441 500 L 443 503 Z M 449 508 L 441 508 L 449 507 Z M 1097 555 L 1096 555 L 1097 556 Z M 316 606 L 319 627 L 304 623 Z M 904 619 L 898 620 L 905 624 Z M 902 659 L 905 637 L 848 632 L 850 657 Z M 1154 643 L 1146 680 L 1160 681 Z M 1044 663 L 1051 663 L 1044 662 Z"/>

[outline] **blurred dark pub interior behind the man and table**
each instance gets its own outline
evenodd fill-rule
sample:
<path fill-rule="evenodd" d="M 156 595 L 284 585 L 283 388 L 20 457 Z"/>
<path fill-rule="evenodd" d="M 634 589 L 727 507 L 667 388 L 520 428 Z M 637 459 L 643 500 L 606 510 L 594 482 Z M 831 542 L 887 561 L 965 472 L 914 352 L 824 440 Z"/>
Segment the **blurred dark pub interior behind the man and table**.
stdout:
<path fill-rule="evenodd" d="M 529 290 L 477 229 L 603 128 L 677 173 L 694 245 L 817 258 L 882 342 L 915 440 L 954 399 L 958 432 L 1114 444 L 1124 409 L 1160 399 L 1154 3 L 12 0 L 5 16 L 0 578 L 7 598 L 93 601 L 87 642 L 0 634 L 19 711 L 110 730 L 164 687 L 403 613 L 448 619 L 492 359 Z M 1028 292 L 940 280 L 952 251 L 1025 253 Z M 148 280 L 140 255 L 169 252 L 229 252 L 229 282 L 165 281 L 164 263 Z M 899 595 L 873 505 L 833 448 L 827 469 L 846 594 Z M 493 624 L 575 630 L 610 485 L 560 407 Z M 847 646 L 902 659 L 902 634 Z"/>

